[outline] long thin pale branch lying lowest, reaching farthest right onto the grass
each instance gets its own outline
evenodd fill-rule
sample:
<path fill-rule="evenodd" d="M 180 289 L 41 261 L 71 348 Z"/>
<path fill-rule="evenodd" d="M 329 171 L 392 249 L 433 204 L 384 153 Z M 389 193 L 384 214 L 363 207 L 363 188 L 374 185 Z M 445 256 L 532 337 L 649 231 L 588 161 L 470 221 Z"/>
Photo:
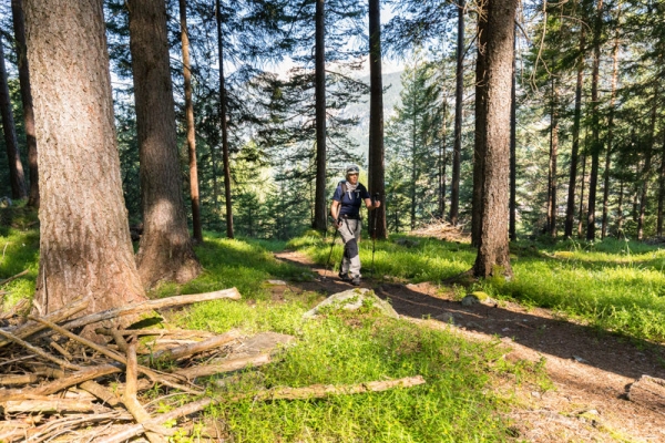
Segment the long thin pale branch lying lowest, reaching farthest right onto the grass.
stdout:
<path fill-rule="evenodd" d="M 418 384 L 423 384 L 424 379 L 421 375 L 408 377 L 399 380 L 389 381 L 372 381 L 368 383 L 351 384 L 344 387 L 334 385 L 314 385 L 308 388 L 279 388 L 275 390 L 260 391 L 258 394 L 246 394 L 238 395 L 226 400 L 213 400 L 211 398 L 201 399 L 198 401 L 185 404 L 184 406 L 177 408 L 171 412 L 157 415 L 149 422 L 142 424 L 135 424 L 127 426 L 123 431 L 100 440 L 96 443 L 122 443 L 125 440 L 132 439 L 147 429 L 154 429 L 153 426 L 160 426 L 161 424 L 178 419 L 181 416 L 196 413 L 211 404 L 217 404 L 221 402 L 228 401 L 241 401 L 244 399 L 256 399 L 256 400 L 276 400 L 276 399 L 311 399 L 311 398 L 324 398 L 328 395 L 344 395 L 344 394 L 357 394 L 365 392 L 377 392 L 386 391 L 393 388 L 410 388 Z"/>

